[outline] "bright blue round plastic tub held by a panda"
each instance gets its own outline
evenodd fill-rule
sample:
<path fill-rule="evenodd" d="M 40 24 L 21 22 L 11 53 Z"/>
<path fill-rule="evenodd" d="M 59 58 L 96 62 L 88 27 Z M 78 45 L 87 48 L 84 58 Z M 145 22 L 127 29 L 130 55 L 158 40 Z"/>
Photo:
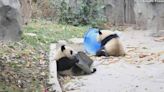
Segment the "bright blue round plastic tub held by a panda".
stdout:
<path fill-rule="evenodd" d="M 101 47 L 101 44 L 96 40 L 97 34 L 98 29 L 96 28 L 89 28 L 89 30 L 84 34 L 84 48 L 87 53 L 92 55 L 95 55 Z"/>

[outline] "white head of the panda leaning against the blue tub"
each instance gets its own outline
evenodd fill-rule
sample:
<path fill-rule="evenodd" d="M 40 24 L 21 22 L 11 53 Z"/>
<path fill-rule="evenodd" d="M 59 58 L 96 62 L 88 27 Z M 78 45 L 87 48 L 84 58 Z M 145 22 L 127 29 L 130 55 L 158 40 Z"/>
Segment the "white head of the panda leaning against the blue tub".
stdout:
<path fill-rule="evenodd" d="M 97 35 L 97 41 L 101 42 L 103 39 L 105 39 L 107 36 L 113 34 L 110 30 L 99 30 Z"/>

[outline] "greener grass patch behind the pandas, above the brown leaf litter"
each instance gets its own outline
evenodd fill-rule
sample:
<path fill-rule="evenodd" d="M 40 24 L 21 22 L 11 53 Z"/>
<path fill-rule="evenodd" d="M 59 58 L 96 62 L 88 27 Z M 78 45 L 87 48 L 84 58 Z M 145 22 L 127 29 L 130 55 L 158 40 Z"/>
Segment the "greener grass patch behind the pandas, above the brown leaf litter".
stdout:
<path fill-rule="evenodd" d="M 33 20 L 24 27 L 22 41 L 34 47 L 39 45 L 47 49 L 50 43 L 55 43 L 58 40 L 82 37 L 88 28 L 88 26 L 75 27 L 44 20 Z"/>

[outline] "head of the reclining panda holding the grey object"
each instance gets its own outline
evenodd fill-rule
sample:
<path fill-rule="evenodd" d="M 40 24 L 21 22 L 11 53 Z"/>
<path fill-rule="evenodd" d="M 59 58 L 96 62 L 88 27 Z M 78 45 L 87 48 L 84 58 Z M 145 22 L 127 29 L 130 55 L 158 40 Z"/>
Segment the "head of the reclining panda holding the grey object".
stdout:
<path fill-rule="evenodd" d="M 56 52 L 55 59 L 59 60 L 62 57 L 68 57 L 70 59 L 74 59 L 75 55 L 76 52 L 71 47 L 62 45 Z"/>

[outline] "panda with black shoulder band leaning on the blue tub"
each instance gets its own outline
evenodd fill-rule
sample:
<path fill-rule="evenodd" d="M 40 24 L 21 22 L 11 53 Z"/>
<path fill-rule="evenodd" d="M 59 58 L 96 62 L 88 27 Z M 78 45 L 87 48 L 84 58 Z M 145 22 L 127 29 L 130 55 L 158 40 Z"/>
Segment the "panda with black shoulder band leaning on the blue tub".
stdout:
<path fill-rule="evenodd" d="M 99 30 L 97 41 L 101 43 L 101 49 L 96 52 L 96 56 L 124 56 L 123 45 L 116 33 L 110 30 Z"/>

